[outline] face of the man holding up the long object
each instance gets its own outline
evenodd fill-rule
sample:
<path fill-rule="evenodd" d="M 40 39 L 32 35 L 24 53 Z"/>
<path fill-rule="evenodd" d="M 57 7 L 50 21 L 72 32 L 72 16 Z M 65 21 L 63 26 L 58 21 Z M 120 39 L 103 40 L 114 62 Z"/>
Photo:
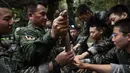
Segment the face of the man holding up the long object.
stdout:
<path fill-rule="evenodd" d="M 47 21 L 46 13 L 47 10 L 44 6 L 37 5 L 37 11 L 32 14 L 33 23 L 38 27 L 44 27 Z"/>

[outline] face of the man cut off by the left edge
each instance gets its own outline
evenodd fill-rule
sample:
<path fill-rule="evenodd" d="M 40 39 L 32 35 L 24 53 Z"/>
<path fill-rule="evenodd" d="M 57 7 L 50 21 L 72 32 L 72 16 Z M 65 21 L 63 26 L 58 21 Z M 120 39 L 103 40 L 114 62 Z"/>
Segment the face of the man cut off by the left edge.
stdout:
<path fill-rule="evenodd" d="M 12 31 L 12 15 L 8 8 L 0 8 L 0 34 Z"/>

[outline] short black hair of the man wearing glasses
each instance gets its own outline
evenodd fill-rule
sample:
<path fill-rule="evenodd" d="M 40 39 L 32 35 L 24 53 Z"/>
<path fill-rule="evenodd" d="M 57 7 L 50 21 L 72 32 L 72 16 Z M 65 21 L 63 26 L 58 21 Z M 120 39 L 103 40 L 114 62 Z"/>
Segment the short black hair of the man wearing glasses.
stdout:
<path fill-rule="evenodd" d="M 119 31 L 122 32 L 124 35 L 130 33 L 130 18 L 117 21 L 114 27 L 118 27 Z"/>

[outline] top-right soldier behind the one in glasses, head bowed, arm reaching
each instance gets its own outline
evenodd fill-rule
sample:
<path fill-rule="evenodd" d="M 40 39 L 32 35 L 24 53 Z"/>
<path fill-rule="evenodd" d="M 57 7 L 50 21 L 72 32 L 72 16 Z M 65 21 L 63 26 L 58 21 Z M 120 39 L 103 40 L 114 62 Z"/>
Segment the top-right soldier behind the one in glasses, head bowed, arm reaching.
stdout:
<path fill-rule="evenodd" d="M 130 12 L 125 5 L 116 5 L 108 11 L 107 15 L 110 20 L 110 23 L 113 24 L 121 19 L 129 18 Z M 111 39 L 112 39 L 112 37 L 110 36 L 109 39 L 101 41 L 99 44 L 90 47 L 87 52 L 83 53 L 83 56 L 85 57 L 88 55 L 95 55 L 97 53 L 109 51 L 110 49 L 112 49 L 114 47 L 114 44 L 111 41 Z M 104 48 L 104 47 L 107 47 L 107 48 Z"/>

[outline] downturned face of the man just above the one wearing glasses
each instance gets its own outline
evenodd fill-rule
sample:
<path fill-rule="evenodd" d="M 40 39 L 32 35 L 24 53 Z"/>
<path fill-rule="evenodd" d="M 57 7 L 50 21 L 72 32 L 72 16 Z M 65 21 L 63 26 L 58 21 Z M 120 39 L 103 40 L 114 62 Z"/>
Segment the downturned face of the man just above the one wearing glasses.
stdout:
<path fill-rule="evenodd" d="M 114 14 L 112 13 L 110 16 L 109 16 L 109 20 L 111 22 L 111 25 L 114 25 L 117 21 L 121 20 L 121 19 L 124 19 L 122 17 L 122 15 L 117 15 L 117 14 Z"/>

